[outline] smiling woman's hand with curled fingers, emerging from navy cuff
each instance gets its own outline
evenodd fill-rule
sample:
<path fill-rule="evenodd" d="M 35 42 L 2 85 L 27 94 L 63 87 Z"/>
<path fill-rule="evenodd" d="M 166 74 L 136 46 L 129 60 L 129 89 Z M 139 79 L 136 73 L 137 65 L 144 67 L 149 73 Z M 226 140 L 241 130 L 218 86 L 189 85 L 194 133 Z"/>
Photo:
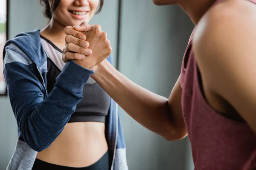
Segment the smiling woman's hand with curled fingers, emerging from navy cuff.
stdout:
<path fill-rule="evenodd" d="M 93 26 L 86 22 L 82 22 L 79 26 L 67 26 L 64 31 L 66 47 L 63 49 L 62 60 L 67 62 L 70 59 L 83 60 L 86 56 L 90 56 L 92 51 L 88 48 L 89 42 L 86 41 L 84 33 L 89 31 Z"/>

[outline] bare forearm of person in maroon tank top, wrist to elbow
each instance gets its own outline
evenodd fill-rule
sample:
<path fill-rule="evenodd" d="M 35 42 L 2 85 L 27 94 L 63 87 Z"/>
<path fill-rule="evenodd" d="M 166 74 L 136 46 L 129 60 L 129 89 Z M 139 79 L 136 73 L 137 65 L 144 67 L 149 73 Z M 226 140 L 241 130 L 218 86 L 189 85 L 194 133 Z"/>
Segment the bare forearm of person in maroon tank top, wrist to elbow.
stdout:
<path fill-rule="evenodd" d="M 103 62 L 91 77 L 126 113 L 148 130 L 165 138 L 170 133 L 175 133 L 167 98 L 140 87 L 123 76 L 108 61 Z"/>

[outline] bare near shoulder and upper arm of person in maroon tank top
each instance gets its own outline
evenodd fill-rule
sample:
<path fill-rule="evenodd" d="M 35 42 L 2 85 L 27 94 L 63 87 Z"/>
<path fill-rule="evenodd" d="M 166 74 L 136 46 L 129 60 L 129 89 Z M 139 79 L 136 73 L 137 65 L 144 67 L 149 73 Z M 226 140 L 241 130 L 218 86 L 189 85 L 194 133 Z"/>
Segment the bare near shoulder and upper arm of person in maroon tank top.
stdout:
<path fill-rule="evenodd" d="M 206 14 L 193 43 L 204 86 L 227 100 L 256 132 L 255 30 L 256 6 L 231 1 Z"/>

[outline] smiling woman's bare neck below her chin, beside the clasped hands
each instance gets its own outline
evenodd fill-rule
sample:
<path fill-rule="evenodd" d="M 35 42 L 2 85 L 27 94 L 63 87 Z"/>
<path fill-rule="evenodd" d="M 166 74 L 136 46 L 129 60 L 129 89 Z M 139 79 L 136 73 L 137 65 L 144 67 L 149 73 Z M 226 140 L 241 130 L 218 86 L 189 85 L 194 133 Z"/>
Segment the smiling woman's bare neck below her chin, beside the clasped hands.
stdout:
<path fill-rule="evenodd" d="M 52 18 L 47 26 L 40 31 L 40 34 L 61 48 L 62 46 L 65 46 L 66 34 L 64 28 L 65 26 Z"/>

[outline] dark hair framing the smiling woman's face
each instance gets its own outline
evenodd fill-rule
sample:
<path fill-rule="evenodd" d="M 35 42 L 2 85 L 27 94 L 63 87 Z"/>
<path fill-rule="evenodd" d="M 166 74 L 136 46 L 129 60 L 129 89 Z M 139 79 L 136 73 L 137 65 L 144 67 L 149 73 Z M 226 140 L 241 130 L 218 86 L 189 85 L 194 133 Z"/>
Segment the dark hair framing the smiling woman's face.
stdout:
<path fill-rule="evenodd" d="M 40 0 L 40 3 L 42 6 L 44 6 L 44 16 L 51 19 L 52 18 L 52 12 L 58 7 L 61 0 L 52 0 L 52 8 L 50 7 L 50 4 L 48 0 Z M 99 14 L 99 12 L 102 10 L 104 0 L 100 0 L 99 3 L 99 9 L 96 11 L 95 14 Z"/>

